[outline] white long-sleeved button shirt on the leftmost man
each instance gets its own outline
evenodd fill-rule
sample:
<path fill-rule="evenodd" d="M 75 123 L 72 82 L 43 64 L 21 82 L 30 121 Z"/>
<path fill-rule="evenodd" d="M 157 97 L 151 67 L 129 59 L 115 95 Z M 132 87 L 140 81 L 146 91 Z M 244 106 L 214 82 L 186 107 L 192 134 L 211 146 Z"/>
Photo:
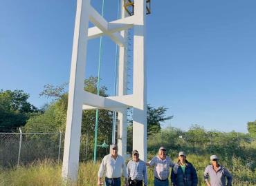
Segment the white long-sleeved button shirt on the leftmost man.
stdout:
<path fill-rule="evenodd" d="M 120 178 L 121 176 L 127 178 L 127 169 L 124 158 L 118 155 L 115 160 L 111 154 L 104 156 L 102 163 L 100 164 L 98 176 L 102 178 L 104 174 L 107 178 Z"/>

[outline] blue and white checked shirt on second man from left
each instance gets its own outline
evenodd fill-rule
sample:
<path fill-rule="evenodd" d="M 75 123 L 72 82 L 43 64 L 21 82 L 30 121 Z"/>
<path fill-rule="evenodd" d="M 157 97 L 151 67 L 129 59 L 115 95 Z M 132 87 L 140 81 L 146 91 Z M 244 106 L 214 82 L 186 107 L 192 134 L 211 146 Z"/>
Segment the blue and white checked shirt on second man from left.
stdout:
<path fill-rule="evenodd" d="M 144 180 L 144 185 L 147 185 L 147 167 L 144 161 L 139 160 L 138 163 L 132 160 L 129 161 L 127 172 L 131 180 Z"/>

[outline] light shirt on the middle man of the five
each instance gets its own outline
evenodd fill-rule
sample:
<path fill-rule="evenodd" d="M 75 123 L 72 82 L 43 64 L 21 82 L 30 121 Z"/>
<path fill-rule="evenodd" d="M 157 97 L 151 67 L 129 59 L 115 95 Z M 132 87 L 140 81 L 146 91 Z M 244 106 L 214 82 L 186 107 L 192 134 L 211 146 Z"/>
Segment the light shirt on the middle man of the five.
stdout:
<path fill-rule="evenodd" d="M 173 167 L 174 163 L 169 156 L 166 156 L 164 160 L 158 156 L 154 156 L 149 161 L 150 167 L 154 166 L 154 176 L 160 180 L 166 180 L 170 174 L 170 167 Z"/>

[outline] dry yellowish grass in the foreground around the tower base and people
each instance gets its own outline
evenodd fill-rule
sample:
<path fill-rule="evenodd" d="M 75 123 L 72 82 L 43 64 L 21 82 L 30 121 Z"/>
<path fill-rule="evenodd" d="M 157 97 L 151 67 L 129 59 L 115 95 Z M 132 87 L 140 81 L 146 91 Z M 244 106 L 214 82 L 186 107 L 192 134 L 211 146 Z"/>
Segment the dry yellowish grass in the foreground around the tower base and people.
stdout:
<path fill-rule="evenodd" d="M 199 185 L 205 185 L 203 182 L 203 170 L 208 165 L 208 158 L 203 156 L 188 156 L 188 161 L 192 162 L 197 169 L 199 176 Z M 175 160 L 176 161 L 176 160 Z M 234 176 L 233 185 L 255 185 L 256 173 L 247 167 L 241 165 L 239 159 L 233 158 L 233 169 L 230 169 Z M 72 186 L 95 186 L 97 183 L 97 174 L 100 163 L 96 165 L 93 162 L 80 163 L 77 183 Z M 62 165 L 46 160 L 37 161 L 28 166 L 19 168 L 0 170 L 1 186 L 62 186 L 61 179 Z M 154 185 L 153 169 L 148 169 L 148 185 Z M 67 184 L 71 186 L 71 184 Z"/>

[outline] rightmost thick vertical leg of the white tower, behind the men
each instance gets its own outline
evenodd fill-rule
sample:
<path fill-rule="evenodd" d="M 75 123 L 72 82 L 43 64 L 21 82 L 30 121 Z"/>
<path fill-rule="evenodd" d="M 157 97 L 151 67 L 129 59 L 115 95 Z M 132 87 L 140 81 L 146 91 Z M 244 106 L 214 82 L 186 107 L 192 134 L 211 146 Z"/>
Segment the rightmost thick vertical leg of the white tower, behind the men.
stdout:
<path fill-rule="evenodd" d="M 146 1 L 134 1 L 133 149 L 147 161 L 147 65 L 145 60 Z"/>

